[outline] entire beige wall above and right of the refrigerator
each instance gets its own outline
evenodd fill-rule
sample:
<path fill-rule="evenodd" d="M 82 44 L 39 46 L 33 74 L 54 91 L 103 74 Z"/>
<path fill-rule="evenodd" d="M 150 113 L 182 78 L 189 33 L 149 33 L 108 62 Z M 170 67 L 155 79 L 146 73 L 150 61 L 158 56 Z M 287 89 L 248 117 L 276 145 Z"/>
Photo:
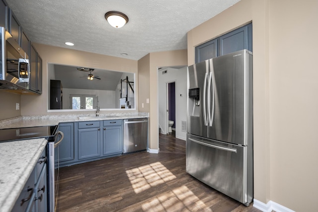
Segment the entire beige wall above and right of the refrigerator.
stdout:
<path fill-rule="evenodd" d="M 318 1 L 241 0 L 188 33 L 194 48 L 253 24 L 254 198 L 315 211 Z M 315 51 L 315 52 L 314 52 Z"/>

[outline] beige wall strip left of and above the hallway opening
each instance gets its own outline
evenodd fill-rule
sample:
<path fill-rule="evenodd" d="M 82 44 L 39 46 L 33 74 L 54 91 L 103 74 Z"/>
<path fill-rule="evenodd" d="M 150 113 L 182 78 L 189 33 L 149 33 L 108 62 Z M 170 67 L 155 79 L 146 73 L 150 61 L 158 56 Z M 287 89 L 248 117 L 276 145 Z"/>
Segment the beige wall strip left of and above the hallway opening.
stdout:
<path fill-rule="evenodd" d="M 159 149 L 158 68 L 187 65 L 187 50 L 150 53 L 150 148 Z"/>

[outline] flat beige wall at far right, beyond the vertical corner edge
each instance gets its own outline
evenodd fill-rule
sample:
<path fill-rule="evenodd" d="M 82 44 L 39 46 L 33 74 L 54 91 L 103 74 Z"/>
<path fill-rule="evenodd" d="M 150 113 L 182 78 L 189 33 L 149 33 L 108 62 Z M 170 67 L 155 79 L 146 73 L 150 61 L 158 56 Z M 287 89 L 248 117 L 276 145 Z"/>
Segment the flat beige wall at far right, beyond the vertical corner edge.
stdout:
<path fill-rule="evenodd" d="M 318 1 L 269 4 L 270 198 L 317 211 Z M 295 42 L 299 41 L 299 42 Z"/>

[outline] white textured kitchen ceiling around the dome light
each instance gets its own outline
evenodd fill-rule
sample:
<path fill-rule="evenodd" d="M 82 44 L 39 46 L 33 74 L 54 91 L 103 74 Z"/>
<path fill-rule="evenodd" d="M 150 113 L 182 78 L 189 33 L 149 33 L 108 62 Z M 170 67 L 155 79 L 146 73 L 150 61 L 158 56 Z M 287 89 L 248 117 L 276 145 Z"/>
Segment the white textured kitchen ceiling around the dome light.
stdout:
<path fill-rule="evenodd" d="M 238 1 L 6 0 L 33 42 L 132 60 L 187 49 L 189 30 Z M 125 13 L 129 22 L 113 28 L 104 18 L 111 10 Z"/>

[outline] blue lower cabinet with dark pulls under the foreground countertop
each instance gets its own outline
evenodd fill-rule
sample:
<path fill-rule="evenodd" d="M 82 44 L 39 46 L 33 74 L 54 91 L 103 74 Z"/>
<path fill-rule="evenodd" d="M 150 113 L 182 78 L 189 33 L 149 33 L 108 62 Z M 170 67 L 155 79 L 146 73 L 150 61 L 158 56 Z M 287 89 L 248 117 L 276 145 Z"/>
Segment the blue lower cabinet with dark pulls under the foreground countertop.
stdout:
<path fill-rule="evenodd" d="M 31 172 L 12 212 L 47 212 L 46 149 Z"/>

